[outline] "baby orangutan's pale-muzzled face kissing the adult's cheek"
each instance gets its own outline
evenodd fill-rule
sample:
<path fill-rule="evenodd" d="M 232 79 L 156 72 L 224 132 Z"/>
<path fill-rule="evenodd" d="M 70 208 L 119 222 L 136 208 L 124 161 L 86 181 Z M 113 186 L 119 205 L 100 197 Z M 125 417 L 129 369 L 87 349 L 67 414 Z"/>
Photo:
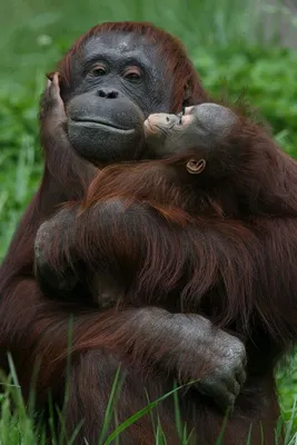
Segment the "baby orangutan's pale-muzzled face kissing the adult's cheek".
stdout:
<path fill-rule="evenodd" d="M 231 110 L 216 103 L 201 103 L 187 107 L 179 115 L 150 115 L 145 121 L 145 132 L 157 158 L 190 154 L 186 168 L 189 174 L 200 174 L 236 121 Z"/>

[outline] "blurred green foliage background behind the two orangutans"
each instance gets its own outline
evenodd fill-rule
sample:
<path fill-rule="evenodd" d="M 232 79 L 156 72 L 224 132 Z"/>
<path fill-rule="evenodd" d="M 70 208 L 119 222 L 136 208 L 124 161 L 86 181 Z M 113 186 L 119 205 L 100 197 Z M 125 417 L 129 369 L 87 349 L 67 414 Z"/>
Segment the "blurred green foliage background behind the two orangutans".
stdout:
<path fill-rule="evenodd" d="M 0 260 L 40 180 L 37 112 L 44 72 L 88 28 L 111 20 L 148 20 L 180 37 L 211 93 L 236 99 L 245 90 L 281 147 L 297 157 L 296 0 L 2 0 Z M 297 359 L 278 376 L 289 418 Z"/>

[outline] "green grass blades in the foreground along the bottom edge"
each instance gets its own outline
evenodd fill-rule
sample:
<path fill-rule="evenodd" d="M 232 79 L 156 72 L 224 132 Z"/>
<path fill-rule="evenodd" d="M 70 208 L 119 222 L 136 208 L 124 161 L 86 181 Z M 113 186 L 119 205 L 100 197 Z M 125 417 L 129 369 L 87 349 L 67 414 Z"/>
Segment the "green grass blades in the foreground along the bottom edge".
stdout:
<path fill-rule="evenodd" d="M 57 408 L 52 406 L 49 402 L 49 433 L 46 434 L 44 426 L 42 423 L 37 422 L 34 417 L 33 411 L 33 397 L 29 402 L 29 408 L 24 405 L 21 389 L 18 382 L 18 377 L 13 367 L 13 363 L 11 357 L 9 356 L 11 374 L 10 378 L 3 378 L 3 394 L 0 395 L 0 444 L 1 445 L 31 445 L 39 444 L 46 445 L 48 434 L 50 435 L 52 445 L 60 445 L 67 443 L 68 445 L 72 445 L 76 441 L 80 428 L 82 427 L 83 421 L 81 421 L 71 437 L 68 437 L 65 428 L 65 419 L 63 419 L 63 408 L 67 406 L 68 397 L 67 392 L 65 396 L 63 407 Z M 70 364 L 70 362 L 69 362 Z M 192 445 L 192 435 L 194 432 L 188 431 L 187 424 L 184 424 L 180 417 L 179 412 L 179 400 L 178 395 L 179 390 L 186 389 L 187 385 L 177 386 L 164 394 L 156 400 L 150 400 L 147 396 L 147 405 L 143 406 L 142 409 L 133 413 L 131 416 L 127 417 L 123 422 L 119 423 L 117 421 L 117 403 L 121 397 L 121 388 L 125 382 L 125 376 L 120 370 L 120 367 L 117 369 L 113 383 L 110 388 L 110 397 L 106 406 L 106 413 L 103 418 L 103 425 L 101 431 L 98 431 L 98 445 L 110 445 L 110 444 L 120 444 L 121 443 L 121 434 L 129 428 L 131 425 L 136 424 L 141 417 L 149 416 L 151 421 L 151 425 L 155 432 L 155 444 L 156 445 L 170 445 L 167 442 L 166 433 L 162 429 L 160 418 L 158 415 L 158 405 L 161 404 L 165 399 L 172 399 L 175 406 L 175 426 L 177 429 L 177 435 L 180 439 L 180 445 Z M 188 385 L 190 385 L 189 383 Z M 143 388 L 146 392 L 146 388 Z M 11 409 L 11 407 L 14 409 Z M 291 419 L 287 423 L 287 433 L 286 433 L 286 445 L 296 445 L 296 434 L 294 432 L 294 416 L 297 415 L 297 405 L 291 409 Z M 59 419 L 59 434 L 57 434 L 57 429 L 53 427 L 53 416 Z M 220 432 L 216 439 L 216 443 L 209 445 L 221 445 L 225 435 L 225 428 L 228 421 L 228 412 L 225 416 L 222 416 Z M 56 425 L 56 422 L 55 422 Z M 113 426 L 113 429 L 111 427 Z M 280 427 L 283 425 L 283 421 L 279 421 L 279 425 L 275 431 L 275 445 L 279 444 L 280 436 Z M 251 444 L 253 439 L 253 427 L 247 435 L 246 444 Z M 83 442 L 88 445 L 88 442 Z M 196 443 L 196 442 L 195 442 Z M 260 444 L 259 444 L 260 445 Z"/>

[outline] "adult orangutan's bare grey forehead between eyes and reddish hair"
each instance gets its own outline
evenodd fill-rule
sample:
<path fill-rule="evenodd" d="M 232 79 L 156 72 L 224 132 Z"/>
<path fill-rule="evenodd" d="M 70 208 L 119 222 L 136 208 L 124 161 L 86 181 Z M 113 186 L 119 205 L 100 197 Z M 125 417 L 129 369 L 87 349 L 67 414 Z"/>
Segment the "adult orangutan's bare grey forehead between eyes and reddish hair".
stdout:
<path fill-rule="evenodd" d="M 131 61 L 148 68 L 164 69 L 164 60 L 155 42 L 135 32 L 106 32 L 90 37 L 82 46 L 83 59 L 107 59 L 115 62 Z"/>

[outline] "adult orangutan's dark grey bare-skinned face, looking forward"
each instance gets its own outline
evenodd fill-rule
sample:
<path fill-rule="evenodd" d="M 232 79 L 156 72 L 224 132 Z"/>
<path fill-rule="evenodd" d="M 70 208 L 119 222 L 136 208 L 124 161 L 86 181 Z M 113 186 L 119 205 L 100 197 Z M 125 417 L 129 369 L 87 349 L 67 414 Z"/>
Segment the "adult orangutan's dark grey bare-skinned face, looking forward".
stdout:
<path fill-rule="evenodd" d="M 73 58 L 71 85 L 61 87 L 68 136 L 96 164 L 141 159 L 142 123 L 169 109 L 171 85 L 154 44 L 132 33 L 89 39 Z"/>

